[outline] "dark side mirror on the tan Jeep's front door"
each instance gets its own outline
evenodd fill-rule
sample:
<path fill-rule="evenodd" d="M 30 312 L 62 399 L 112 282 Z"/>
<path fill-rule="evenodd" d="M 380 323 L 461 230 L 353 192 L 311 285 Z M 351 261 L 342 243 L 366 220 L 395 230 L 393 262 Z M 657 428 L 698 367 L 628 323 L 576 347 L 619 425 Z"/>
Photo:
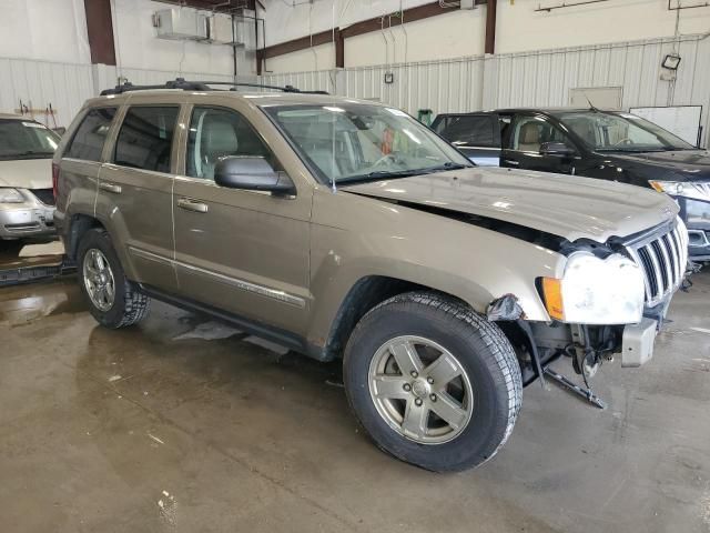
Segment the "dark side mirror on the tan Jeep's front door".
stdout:
<path fill-rule="evenodd" d="M 251 155 L 221 158 L 214 168 L 214 182 L 230 189 L 295 194 L 296 188 L 284 172 L 275 171 L 266 159 Z"/>

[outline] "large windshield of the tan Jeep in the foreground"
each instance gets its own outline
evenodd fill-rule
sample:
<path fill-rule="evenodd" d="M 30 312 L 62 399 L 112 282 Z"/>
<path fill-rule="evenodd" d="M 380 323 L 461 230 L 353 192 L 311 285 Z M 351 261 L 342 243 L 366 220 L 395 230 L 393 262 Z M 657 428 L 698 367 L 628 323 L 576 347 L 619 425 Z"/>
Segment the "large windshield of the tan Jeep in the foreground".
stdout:
<path fill-rule="evenodd" d="M 325 183 L 470 167 L 456 149 L 403 111 L 363 103 L 264 105 Z"/>

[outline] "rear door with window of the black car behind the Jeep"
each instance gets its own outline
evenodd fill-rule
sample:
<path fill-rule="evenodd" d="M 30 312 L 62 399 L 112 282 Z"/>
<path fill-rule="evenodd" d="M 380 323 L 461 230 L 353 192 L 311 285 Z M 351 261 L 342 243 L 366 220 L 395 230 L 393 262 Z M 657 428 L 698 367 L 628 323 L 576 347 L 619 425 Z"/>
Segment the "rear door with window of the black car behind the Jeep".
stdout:
<path fill-rule="evenodd" d="M 432 129 L 477 165 L 500 164 L 500 125 L 496 113 L 438 115 Z"/>

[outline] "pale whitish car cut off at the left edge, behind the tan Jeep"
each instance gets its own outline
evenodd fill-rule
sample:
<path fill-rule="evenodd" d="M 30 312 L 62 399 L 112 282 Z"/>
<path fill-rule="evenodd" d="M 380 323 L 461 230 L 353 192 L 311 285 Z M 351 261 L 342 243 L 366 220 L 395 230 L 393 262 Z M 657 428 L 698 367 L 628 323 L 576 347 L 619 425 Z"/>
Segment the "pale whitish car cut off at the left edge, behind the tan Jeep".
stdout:
<path fill-rule="evenodd" d="M 52 155 L 59 135 L 16 114 L 0 114 L 0 240 L 54 234 Z"/>

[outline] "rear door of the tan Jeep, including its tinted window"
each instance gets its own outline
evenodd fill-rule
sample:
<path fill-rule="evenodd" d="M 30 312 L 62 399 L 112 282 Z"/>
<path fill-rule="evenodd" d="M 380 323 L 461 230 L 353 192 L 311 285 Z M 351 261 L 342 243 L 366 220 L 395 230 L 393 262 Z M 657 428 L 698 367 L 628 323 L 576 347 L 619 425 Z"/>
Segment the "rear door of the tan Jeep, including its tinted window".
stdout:
<path fill-rule="evenodd" d="M 178 286 L 173 259 L 173 138 L 180 104 L 121 110 L 115 143 L 99 174 L 97 217 L 129 278 L 161 290 Z"/>

